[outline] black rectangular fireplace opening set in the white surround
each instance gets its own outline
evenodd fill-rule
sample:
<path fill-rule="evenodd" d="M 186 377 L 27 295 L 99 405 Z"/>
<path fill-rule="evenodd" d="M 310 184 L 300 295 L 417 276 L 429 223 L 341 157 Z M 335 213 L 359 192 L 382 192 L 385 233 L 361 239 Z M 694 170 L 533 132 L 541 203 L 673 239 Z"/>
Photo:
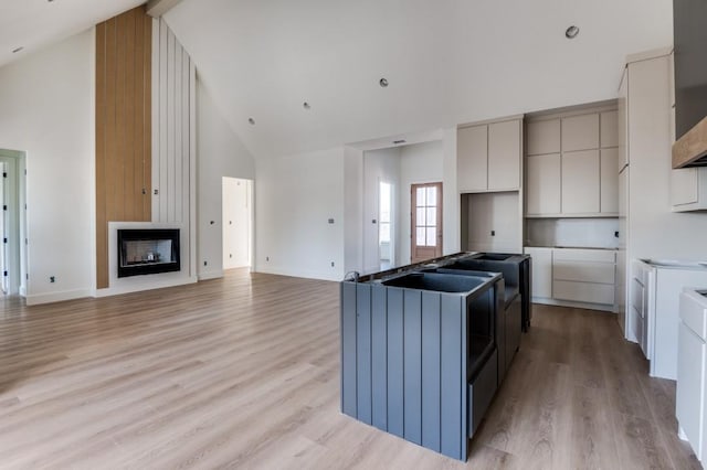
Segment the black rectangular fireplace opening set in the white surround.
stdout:
<path fill-rule="evenodd" d="M 180 269 L 179 228 L 118 229 L 118 277 Z"/>

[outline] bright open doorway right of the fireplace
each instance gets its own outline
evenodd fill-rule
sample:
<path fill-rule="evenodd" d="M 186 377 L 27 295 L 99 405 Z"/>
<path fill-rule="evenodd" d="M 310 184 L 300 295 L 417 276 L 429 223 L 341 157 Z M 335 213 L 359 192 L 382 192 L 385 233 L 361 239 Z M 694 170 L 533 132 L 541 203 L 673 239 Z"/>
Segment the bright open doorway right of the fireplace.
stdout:
<path fill-rule="evenodd" d="M 253 245 L 253 181 L 223 177 L 223 269 L 250 267 Z"/>

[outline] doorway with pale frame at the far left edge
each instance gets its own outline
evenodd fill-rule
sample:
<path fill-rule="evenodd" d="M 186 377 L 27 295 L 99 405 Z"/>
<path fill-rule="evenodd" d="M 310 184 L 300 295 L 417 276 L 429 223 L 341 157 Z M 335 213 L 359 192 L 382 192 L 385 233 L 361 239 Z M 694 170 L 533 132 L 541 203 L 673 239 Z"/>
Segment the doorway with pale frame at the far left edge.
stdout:
<path fill-rule="evenodd" d="M 0 295 L 27 295 L 24 152 L 0 149 Z M 22 209 L 21 209 L 22 207 Z"/>

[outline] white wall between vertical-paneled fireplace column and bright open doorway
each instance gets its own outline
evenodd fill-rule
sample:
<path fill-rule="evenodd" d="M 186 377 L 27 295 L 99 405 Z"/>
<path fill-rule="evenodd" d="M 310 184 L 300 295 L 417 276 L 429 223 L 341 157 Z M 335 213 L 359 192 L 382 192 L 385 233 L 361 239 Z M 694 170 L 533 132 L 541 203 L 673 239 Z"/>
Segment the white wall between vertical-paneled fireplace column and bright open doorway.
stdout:
<path fill-rule="evenodd" d="M 197 174 L 197 273 L 200 279 L 207 279 L 223 276 L 221 178 L 254 180 L 255 163 L 253 156 L 221 117 L 209 90 L 199 79 Z"/>

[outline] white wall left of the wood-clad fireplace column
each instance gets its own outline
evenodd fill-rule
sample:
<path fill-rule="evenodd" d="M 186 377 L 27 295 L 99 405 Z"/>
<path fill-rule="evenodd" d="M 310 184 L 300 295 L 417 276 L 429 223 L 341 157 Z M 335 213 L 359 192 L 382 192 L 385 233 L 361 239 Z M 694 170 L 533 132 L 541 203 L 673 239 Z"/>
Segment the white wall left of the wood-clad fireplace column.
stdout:
<path fill-rule="evenodd" d="M 0 68 L 0 148 L 27 152 L 28 303 L 95 284 L 94 42 L 92 29 Z"/>

